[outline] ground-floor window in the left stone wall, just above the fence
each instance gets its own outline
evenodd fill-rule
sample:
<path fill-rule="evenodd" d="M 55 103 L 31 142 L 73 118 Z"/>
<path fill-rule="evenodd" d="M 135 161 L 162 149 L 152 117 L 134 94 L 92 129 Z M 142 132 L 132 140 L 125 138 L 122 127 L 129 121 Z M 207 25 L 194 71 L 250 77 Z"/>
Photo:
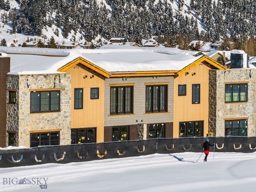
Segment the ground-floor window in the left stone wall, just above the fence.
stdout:
<path fill-rule="evenodd" d="M 60 132 L 43 132 L 30 134 L 30 147 L 59 144 Z"/>

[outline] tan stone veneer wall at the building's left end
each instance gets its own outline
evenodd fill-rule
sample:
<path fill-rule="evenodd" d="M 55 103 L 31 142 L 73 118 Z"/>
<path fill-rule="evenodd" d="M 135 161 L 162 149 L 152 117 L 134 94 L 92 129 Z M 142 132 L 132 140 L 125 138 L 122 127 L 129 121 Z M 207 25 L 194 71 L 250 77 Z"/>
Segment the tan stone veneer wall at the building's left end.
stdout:
<path fill-rule="evenodd" d="M 27 86 L 27 80 L 30 86 Z M 60 145 L 70 144 L 71 75 L 8 75 L 7 88 L 17 89 L 17 102 L 8 107 L 7 130 L 18 131 L 18 146 L 30 146 L 31 131 L 58 130 Z M 60 112 L 30 113 L 30 90 L 61 88 Z M 16 119 L 16 120 L 15 120 Z"/>

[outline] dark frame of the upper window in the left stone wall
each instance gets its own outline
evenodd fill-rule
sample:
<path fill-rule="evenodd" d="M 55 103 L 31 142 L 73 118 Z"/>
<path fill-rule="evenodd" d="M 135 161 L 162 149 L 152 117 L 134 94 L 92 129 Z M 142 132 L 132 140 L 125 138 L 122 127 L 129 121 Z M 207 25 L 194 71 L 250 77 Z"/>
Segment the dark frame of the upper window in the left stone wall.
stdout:
<path fill-rule="evenodd" d="M 49 94 L 49 97 L 44 97 L 46 96 L 45 94 Z M 58 97 L 54 97 L 54 93 L 57 93 Z M 34 95 L 35 94 L 35 95 Z M 38 94 L 38 96 L 36 96 Z M 33 98 L 34 97 L 34 98 Z M 54 100 L 57 102 L 54 103 Z M 43 103 L 42 103 L 43 101 Z M 34 104 L 32 104 L 34 103 Z M 58 110 L 54 110 L 52 108 L 57 108 Z M 32 110 L 32 108 L 38 106 L 39 110 Z M 48 110 L 44 110 L 48 106 Z M 31 91 L 30 92 L 30 113 L 45 113 L 45 112 L 60 112 L 60 90 L 47 90 L 47 91 Z"/>

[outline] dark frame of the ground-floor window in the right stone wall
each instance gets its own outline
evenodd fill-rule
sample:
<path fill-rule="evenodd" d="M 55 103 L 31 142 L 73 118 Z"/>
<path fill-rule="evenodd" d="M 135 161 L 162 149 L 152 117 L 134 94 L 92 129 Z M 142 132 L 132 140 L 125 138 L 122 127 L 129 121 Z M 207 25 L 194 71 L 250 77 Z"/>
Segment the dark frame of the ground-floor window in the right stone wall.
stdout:
<path fill-rule="evenodd" d="M 238 121 L 239 126 L 233 126 L 234 123 Z M 246 122 L 245 127 L 241 127 L 241 121 Z M 228 126 L 231 124 L 231 126 Z M 228 129 L 230 131 L 228 131 Z M 242 134 L 243 129 L 245 130 L 245 134 Z M 233 132 L 237 131 L 238 135 L 234 135 Z M 228 132 L 231 132 L 231 134 L 228 134 Z M 248 119 L 234 119 L 234 120 L 225 120 L 225 136 L 243 136 L 247 137 L 248 134 Z"/>

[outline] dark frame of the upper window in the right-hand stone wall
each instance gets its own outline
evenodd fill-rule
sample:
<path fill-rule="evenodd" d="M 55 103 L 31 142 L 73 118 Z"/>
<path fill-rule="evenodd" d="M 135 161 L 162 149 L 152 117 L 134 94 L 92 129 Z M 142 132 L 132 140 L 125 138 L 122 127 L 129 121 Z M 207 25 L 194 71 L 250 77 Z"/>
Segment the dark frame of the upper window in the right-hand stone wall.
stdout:
<path fill-rule="evenodd" d="M 246 86 L 245 92 L 242 92 L 242 85 Z M 234 89 L 234 87 L 236 86 L 239 86 L 239 90 Z M 231 88 L 231 90 L 228 88 Z M 234 101 L 234 93 L 238 94 L 236 96 L 238 100 L 236 101 Z M 241 93 L 245 93 L 245 95 L 241 95 Z M 230 96 L 228 96 L 228 94 L 230 94 Z M 242 96 L 245 96 L 244 100 L 241 100 Z M 225 84 L 225 103 L 235 103 L 235 102 L 248 102 L 248 83 Z"/>

